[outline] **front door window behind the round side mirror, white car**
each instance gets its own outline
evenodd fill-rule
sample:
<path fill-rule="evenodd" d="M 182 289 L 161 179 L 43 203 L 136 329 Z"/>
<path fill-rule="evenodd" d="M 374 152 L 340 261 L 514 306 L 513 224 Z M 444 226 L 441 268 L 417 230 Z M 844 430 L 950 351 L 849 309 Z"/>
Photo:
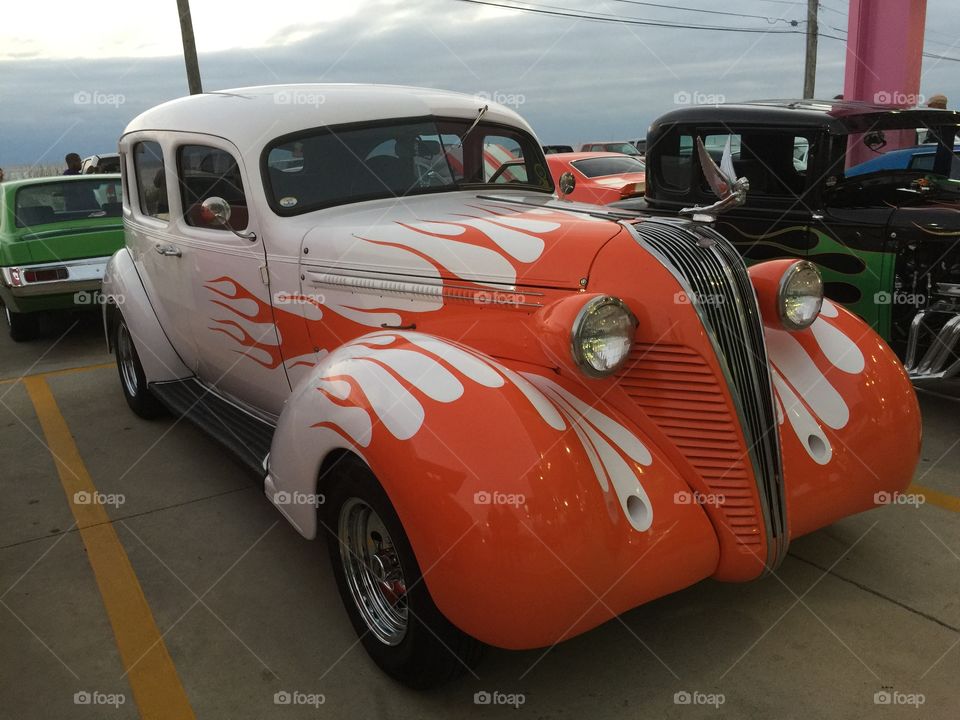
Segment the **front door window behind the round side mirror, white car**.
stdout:
<path fill-rule="evenodd" d="M 203 201 L 219 197 L 230 204 L 230 227 L 247 227 L 247 199 L 237 161 L 226 150 L 208 145 L 183 145 L 177 150 L 184 220 L 194 227 L 224 230 L 203 212 Z"/>

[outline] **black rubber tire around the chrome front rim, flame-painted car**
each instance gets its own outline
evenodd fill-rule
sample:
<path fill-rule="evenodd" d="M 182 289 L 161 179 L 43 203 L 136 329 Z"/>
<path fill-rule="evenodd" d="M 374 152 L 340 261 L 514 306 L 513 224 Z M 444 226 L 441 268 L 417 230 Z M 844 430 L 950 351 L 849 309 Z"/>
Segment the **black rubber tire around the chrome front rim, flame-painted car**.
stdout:
<path fill-rule="evenodd" d="M 400 519 L 370 468 L 356 456 L 342 457 L 324 477 L 324 488 L 326 497 L 320 517 L 326 527 L 333 574 L 350 622 L 373 661 L 394 679 L 417 690 L 440 685 L 473 668 L 484 645 L 454 627 L 437 609 Z M 383 631 L 365 619 L 347 579 L 348 572 L 356 578 L 357 570 L 348 570 L 345 556 L 354 560 L 355 568 L 370 567 L 359 562 L 359 553 L 345 550 L 350 542 L 345 540 L 342 528 L 344 524 L 351 526 L 347 518 L 365 512 L 364 506 L 375 513 L 386 530 L 386 542 L 379 547 L 392 546 L 393 558 L 399 561 L 402 586 L 406 588 L 402 599 L 392 605 L 395 610 L 406 609 L 402 637 L 393 638 L 395 644 L 382 639 Z M 377 558 L 382 554 L 376 553 Z M 379 567 L 383 569 L 389 564 Z"/>

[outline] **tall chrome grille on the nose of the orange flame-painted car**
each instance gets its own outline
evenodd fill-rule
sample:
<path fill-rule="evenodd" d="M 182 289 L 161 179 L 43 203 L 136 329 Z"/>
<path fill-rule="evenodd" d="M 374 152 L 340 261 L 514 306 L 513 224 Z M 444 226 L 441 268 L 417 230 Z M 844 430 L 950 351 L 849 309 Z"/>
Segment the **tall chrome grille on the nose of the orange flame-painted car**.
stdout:
<path fill-rule="evenodd" d="M 627 227 L 681 283 L 713 343 L 757 482 L 767 567 L 775 569 L 789 541 L 786 498 L 763 325 L 746 266 L 722 235 L 703 225 L 647 219 Z"/>

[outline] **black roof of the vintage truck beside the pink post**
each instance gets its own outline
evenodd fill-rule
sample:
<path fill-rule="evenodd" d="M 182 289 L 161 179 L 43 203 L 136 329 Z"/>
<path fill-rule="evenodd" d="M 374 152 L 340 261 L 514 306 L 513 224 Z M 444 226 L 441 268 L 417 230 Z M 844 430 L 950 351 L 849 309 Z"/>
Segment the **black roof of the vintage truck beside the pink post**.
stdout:
<path fill-rule="evenodd" d="M 909 117 L 909 120 L 905 118 Z M 960 124 L 960 112 L 932 108 L 901 109 L 853 100 L 751 100 L 719 105 L 691 105 L 659 118 L 651 130 L 674 123 L 794 125 L 826 128 L 834 133 L 857 132 L 882 120 L 924 127 Z"/>

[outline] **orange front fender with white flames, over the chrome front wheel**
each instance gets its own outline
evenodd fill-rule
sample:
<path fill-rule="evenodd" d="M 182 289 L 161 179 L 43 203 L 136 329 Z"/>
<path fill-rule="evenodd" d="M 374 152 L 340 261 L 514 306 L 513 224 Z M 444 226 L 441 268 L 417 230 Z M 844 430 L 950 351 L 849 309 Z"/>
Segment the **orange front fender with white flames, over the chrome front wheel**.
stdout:
<path fill-rule="evenodd" d="M 266 492 L 312 538 L 324 462 L 356 453 L 444 615 L 486 643 L 540 647 L 717 567 L 709 519 L 640 435 L 544 368 L 377 332 L 324 357 L 294 389 Z"/>

